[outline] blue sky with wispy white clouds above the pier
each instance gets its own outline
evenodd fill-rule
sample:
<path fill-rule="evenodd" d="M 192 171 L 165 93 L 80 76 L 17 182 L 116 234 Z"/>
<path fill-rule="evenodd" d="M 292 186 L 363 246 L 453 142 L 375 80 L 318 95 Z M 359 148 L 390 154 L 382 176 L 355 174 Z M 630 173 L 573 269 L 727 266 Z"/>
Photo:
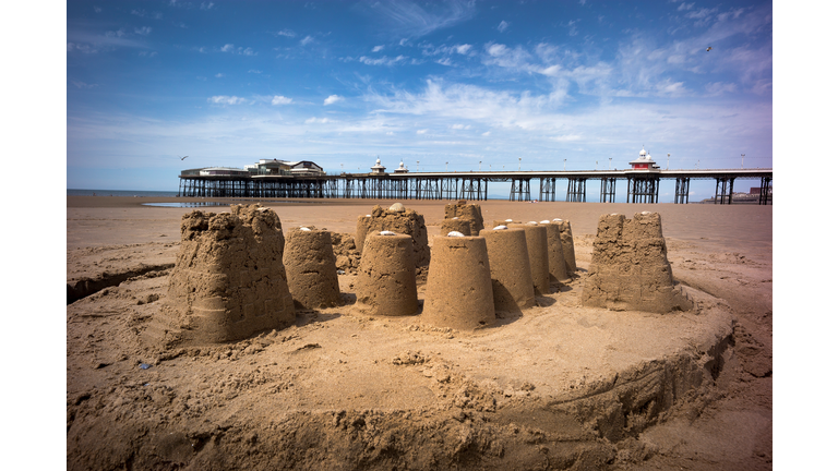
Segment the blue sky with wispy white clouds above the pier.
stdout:
<path fill-rule="evenodd" d="M 773 167 L 773 27 L 769 1 L 70 1 L 67 186 L 260 158 L 625 168 L 644 146 Z"/>

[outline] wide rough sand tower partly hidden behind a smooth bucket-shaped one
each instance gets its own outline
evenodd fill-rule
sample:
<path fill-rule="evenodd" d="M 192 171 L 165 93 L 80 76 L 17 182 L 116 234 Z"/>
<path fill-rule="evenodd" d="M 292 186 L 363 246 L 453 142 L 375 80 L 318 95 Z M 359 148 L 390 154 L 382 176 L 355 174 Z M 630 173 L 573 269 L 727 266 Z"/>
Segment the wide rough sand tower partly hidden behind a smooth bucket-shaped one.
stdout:
<path fill-rule="evenodd" d="M 388 209 L 381 206 L 372 208 L 372 214 L 358 218 L 355 244 L 361 251 L 367 245 L 364 240 L 368 233 L 392 231 L 410 235 L 414 244 L 414 263 L 416 267 L 427 267 L 431 263 L 431 249 L 428 246 L 428 229 L 424 218 L 419 213 L 406 208 L 400 203 L 395 203 Z"/>

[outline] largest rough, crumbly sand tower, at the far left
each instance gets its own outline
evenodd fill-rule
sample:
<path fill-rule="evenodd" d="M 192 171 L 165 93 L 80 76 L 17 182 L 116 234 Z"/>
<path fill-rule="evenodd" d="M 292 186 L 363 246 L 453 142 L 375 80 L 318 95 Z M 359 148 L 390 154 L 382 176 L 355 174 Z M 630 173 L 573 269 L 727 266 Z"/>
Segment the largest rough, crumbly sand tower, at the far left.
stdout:
<path fill-rule="evenodd" d="M 292 323 L 284 245 L 279 217 L 266 207 L 183 215 L 160 312 L 169 335 L 188 343 L 225 342 Z"/>

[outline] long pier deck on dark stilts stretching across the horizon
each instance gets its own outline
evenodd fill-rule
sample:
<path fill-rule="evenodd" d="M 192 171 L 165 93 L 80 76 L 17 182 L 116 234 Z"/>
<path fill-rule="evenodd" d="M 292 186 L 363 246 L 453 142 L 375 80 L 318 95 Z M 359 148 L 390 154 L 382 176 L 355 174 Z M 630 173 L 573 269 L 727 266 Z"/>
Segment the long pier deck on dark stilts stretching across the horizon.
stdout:
<path fill-rule="evenodd" d="M 197 169 L 200 170 L 200 169 Z M 289 198 L 394 198 L 470 200 L 489 198 L 490 182 L 510 184 L 510 201 L 554 202 L 566 189 L 567 202 L 586 202 L 587 184 L 599 183 L 600 203 L 616 203 L 618 185 L 624 185 L 625 203 L 658 203 L 661 184 L 674 188 L 674 203 L 690 201 L 690 182 L 715 180 L 715 204 L 731 204 L 737 180 L 758 180 L 758 204 L 770 204 L 773 169 L 708 170 L 573 170 L 573 171 L 467 171 L 340 174 L 248 174 L 184 170 L 179 176 L 178 196 L 191 197 L 289 197 Z"/>

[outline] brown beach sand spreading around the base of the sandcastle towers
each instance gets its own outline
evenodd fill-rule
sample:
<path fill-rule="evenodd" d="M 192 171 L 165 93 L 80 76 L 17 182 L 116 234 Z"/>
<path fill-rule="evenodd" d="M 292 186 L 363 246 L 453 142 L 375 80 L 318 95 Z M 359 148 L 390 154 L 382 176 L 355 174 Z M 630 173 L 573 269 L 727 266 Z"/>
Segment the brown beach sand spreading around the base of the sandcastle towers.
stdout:
<path fill-rule="evenodd" d="M 165 348 L 153 319 L 193 209 L 141 205 L 166 201 L 191 200 L 67 198 L 68 283 L 112 285 L 67 307 L 69 469 L 773 467 L 770 206 L 479 202 L 486 220 L 570 220 L 578 276 L 539 307 L 458 331 L 352 315 L 342 275 L 344 306 Z M 354 233 L 392 203 L 264 204 L 285 230 Z M 448 202 L 402 203 L 439 233 Z M 698 307 L 582 307 L 599 216 L 643 210 L 660 213 Z"/>

